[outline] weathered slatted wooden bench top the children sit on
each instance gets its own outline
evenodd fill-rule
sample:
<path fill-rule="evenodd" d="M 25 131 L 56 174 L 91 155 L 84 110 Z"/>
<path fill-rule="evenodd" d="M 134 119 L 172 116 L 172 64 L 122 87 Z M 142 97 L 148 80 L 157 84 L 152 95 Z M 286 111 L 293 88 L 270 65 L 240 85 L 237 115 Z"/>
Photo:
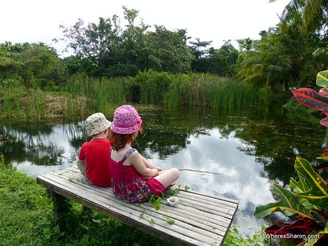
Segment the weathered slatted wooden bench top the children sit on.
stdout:
<path fill-rule="evenodd" d="M 222 245 L 239 203 L 180 188 L 175 195 L 179 199 L 177 205 L 170 206 L 162 200 L 156 211 L 147 202 L 131 204 L 117 199 L 112 188 L 90 184 L 76 167 L 36 179 L 54 198 L 59 194 L 173 245 Z M 168 223 L 167 218 L 174 223 Z M 150 220 L 155 223 L 149 223 Z"/>

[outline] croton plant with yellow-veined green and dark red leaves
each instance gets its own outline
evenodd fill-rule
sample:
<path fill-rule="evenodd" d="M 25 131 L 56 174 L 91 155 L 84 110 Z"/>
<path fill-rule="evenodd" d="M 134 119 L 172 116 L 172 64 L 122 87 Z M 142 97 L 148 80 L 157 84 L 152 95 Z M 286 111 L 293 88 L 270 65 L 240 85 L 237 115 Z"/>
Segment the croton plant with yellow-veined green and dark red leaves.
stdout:
<path fill-rule="evenodd" d="M 320 120 L 320 124 L 328 127 L 328 71 L 318 73 L 316 84 L 323 87 L 319 92 L 302 88 L 294 90 L 293 94 L 299 103 L 322 111 L 326 117 Z M 323 151 L 321 159 L 327 159 L 326 156 L 328 150 Z M 318 173 L 328 168 L 328 162 L 321 163 L 314 170 L 307 160 L 296 157 L 294 167 L 298 181 L 291 178 L 289 189 L 272 184 L 278 202 L 258 206 L 254 216 L 259 219 L 282 212 L 295 220 L 292 223 L 276 222 L 267 227 L 265 233 L 270 238 L 291 240 L 298 246 L 328 245 L 328 181 Z"/>

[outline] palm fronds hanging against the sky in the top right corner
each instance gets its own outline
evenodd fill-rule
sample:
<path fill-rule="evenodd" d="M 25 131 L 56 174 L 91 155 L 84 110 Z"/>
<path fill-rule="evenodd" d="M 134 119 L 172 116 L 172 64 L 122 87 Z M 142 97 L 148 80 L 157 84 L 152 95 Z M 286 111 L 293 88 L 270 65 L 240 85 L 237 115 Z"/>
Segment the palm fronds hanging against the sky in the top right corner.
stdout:
<path fill-rule="evenodd" d="M 269 3 L 276 1 L 269 0 Z M 282 18 L 287 21 L 292 20 L 294 14 L 298 12 L 302 13 L 303 35 L 320 28 L 324 29 L 328 24 L 328 0 L 291 0 L 285 7 Z"/>

